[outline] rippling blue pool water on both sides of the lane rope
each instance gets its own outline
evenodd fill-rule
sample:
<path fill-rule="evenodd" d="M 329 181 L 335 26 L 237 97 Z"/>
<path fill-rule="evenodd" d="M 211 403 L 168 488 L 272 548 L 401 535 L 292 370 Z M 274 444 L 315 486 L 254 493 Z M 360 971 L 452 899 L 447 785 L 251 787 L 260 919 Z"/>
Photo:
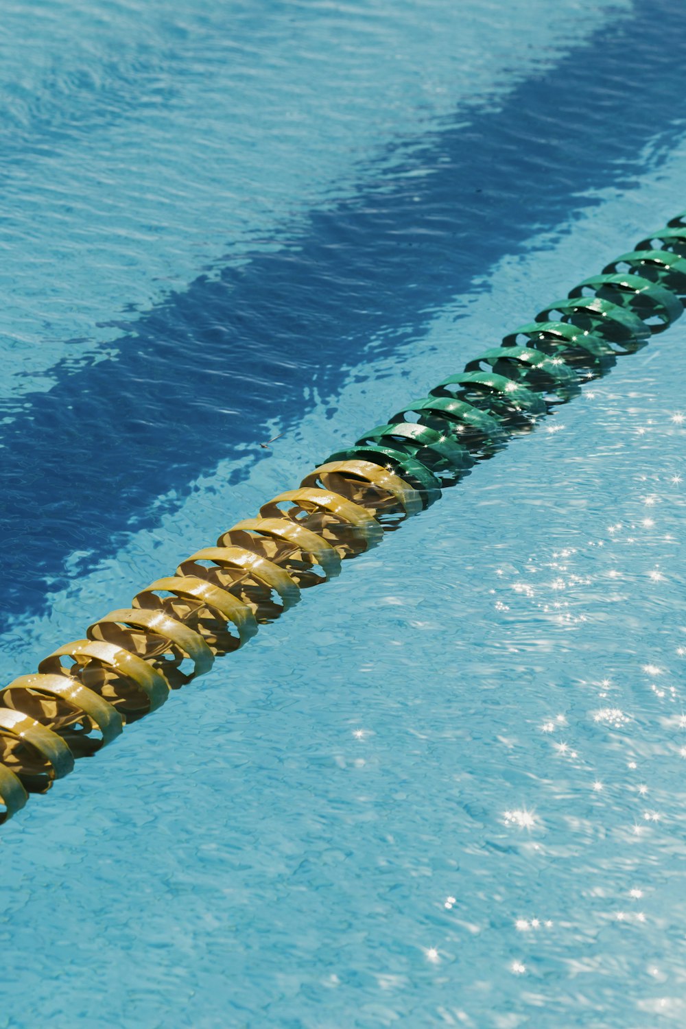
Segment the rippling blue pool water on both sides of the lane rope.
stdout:
<path fill-rule="evenodd" d="M 686 206 L 552 7 L 3 7 L 3 681 Z M 32 797 L 1 1029 L 684 1024 L 684 332 Z"/>

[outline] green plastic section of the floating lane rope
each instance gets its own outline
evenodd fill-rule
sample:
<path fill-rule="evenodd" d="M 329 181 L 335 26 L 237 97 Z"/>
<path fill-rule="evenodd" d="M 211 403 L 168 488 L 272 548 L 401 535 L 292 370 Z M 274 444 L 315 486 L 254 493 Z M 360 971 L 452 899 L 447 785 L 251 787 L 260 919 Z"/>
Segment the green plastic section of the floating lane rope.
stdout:
<path fill-rule="evenodd" d="M 441 485 L 644 347 L 684 304 L 686 212 L 328 460 L 384 464 L 433 503 Z"/>

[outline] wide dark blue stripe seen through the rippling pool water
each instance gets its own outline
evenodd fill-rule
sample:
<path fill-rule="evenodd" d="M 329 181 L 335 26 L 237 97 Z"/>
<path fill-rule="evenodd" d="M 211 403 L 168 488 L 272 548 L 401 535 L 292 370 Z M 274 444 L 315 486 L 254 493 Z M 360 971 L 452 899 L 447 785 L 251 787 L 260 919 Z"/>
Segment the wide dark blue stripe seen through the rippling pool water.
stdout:
<path fill-rule="evenodd" d="M 467 127 L 462 110 L 410 141 L 283 251 L 201 277 L 123 326 L 116 361 L 59 367 L 48 393 L 23 397 L 0 438 L 5 612 L 38 608 L 73 549 L 95 560 L 150 524 L 156 496 L 183 496 L 267 417 L 293 425 L 303 385 L 333 390 L 372 335 L 392 348 L 421 331 L 475 275 L 566 219 L 575 194 L 631 181 L 649 140 L 661 133 L 666 148 L 683 131 L 684 39 L 686 5 L 641 6 L 500 110 L 467 112 Z"/>

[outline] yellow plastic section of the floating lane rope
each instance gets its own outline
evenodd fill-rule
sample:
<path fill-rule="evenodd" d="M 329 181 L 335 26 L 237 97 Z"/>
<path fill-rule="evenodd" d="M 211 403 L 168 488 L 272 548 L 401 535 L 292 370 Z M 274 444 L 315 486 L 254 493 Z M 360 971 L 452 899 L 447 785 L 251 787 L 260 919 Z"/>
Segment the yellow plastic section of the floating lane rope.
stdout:
<path fill-rule="evenodd" d="M 344 493 L 333 489 L 334 483 Z M 12 762 L 10 768 L 0 760 L 0 822 L 24 807 L 26 786 L 49 788 L 53 779 L 72 770 L 74 755 L 63 736 L 71 739 L 75 729 L 80 737 L 99 730 L 101 739 L 92 744 L 93 751 L 115 739 L 127 720 L 160 707 L 170 693 L 165 658 L 190 658 L 193 671 L 187 678 L 212 667 L 213 648 L 200 632 L 203 611 L 232 625 L 237 645 L 243 645 L 257 632 L 260 610 L 259 600 L 240 596 L 246 583 L 273 591 L 281 601 L 278 614 L 300 599 L 298 565 L 321 568 L 324 575 L 316 575 L 314 582 L 327 581 L 339 573 L 341 557 L 375 545 L 382 525 L 366 506 L 350 499 L 360 499 L 362 486 L 373 489 L 374 502 L 383 501 L 386 510 L 399 508 L 407 514 L 422 507 L 411 487 L 370 462 L 333 462 L 315 469 L 300 489 L 275 497 L 259 517 L 223 532 L 217 546 L 196 551 L 180 562 L 175 575 L 141 590 L 131 608 L 98 618 L 86 639 L 58 647 L 39 663 L 38 673 L 0 690 L 0 740 L 8 741 L 5 750 Z M 238 545 L 239 540 L 250 546 Z M 274 560 L 259 553 L 260 540 L 272 542 Z M 215 580 L 222 575 L 227 582 Z M 183 615 L 177 613 L 179 606 Z M 22 747 L 29 748 L 33 764 L 22 762 Z M 42 778 L 36 760 L 42 761 Z"/>

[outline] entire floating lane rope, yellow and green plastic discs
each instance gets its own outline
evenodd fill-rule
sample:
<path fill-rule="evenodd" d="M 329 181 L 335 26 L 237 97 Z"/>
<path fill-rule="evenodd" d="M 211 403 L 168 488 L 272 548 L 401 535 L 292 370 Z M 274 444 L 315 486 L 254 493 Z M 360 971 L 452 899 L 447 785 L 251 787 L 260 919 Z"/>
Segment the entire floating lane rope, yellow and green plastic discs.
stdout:
<path fill-rule="evenodd" d="M 686 211 L 0 690 L 0 822 L 686 305 Z"/>

